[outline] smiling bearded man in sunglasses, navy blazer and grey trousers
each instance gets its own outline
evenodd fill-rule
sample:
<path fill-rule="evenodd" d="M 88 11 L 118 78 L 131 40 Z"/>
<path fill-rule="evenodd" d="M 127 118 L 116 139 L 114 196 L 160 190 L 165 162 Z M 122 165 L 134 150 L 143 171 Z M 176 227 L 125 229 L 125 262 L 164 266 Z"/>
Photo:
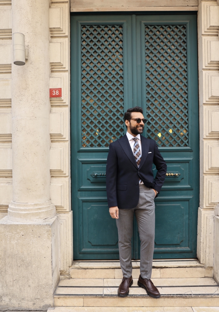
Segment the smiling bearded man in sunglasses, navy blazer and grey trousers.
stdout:
<path fill-rule="evenodd" d="M 116 219 L 119 237 L 119 259 L 123 279 L 119 297 L 129 294 L 132 286 L 132 232 L 136 216 L 141 241 L 138 286 L 153 298 L 160 293 L 151 281 L 155 235 L 155 204 L 167 172 L 167 165 L 154 140 L 141 134 L 146 119 L 141 107 L 133 107 L 124 115 L 127 133 L 109 146 L 107 157 L 107 200 L 109 212 Z M 152 163 L 157 168 L 153 177 Z"/>

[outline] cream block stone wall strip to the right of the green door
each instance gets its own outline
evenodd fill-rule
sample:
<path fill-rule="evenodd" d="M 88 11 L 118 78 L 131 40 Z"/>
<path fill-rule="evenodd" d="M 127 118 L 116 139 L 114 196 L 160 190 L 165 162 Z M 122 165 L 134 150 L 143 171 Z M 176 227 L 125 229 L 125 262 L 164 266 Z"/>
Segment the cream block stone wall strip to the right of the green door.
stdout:
<path fill-rule="evenodd" d="M 198 6 L 198 65 L 200 121 L 200 208 L 197 257 L 212 276 L 214 216 L 219 202 L 219 6 L 200 1 Z M 218 280 L 218 278 L 217 278 Z"/>

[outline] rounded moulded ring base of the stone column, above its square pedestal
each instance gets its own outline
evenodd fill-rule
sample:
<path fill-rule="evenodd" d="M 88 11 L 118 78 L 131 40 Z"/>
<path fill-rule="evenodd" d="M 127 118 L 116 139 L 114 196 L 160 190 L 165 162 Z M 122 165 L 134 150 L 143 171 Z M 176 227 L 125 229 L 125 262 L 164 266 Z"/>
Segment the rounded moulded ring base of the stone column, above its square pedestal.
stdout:
<path fill-rule="evenodd" d="M 14 222 L 32 222 L 52 218 L 56 214 L 56 207 L 51 200 L 47 202 L 18 203 L 11 202 L 8 207 L 8 219 Z"/>

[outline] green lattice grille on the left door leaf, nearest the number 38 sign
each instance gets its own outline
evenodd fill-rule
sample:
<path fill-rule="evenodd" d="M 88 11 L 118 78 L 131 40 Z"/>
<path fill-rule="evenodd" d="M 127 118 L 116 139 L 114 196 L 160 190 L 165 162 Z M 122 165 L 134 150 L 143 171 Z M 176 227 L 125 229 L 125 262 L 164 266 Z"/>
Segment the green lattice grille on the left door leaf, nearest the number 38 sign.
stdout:
<path fill-rule="evenodd" d="M 122 25 L 82 25 L 82 147 L 108 147 L 123 128 Z"/>

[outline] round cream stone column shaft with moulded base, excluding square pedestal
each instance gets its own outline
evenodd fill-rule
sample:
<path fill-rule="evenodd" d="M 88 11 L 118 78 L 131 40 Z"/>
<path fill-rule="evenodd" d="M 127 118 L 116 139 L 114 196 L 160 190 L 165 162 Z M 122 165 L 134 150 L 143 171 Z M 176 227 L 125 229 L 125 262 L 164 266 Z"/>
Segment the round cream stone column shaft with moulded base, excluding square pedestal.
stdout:
<path fill-rule="evenodd" d="M 25 35 L 28 60 L 12 63 L 11 221 L 55 215 L 49 167 L 49 0 L 13 0 L 12 33 Z"/>

